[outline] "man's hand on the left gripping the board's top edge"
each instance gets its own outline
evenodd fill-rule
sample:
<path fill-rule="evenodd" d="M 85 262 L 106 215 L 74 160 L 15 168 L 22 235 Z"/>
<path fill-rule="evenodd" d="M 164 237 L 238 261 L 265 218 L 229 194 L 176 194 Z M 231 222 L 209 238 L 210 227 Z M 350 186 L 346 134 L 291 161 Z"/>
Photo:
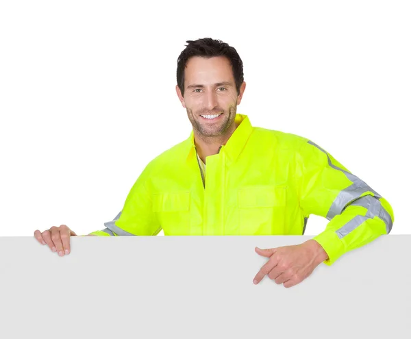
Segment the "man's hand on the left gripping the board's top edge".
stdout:
<path fill-rule="evenodd" d="M 71 236 L 77 236 L 77 234 L 66 225 L 61 225 L 60 227 L 53 226 L 44 232 L 40 232 L 38 229 L 34 231 L 34 238 L 40 244 L 49 245 L 51 251 L 57 252 L 60 257 L 70 253 Z"/>

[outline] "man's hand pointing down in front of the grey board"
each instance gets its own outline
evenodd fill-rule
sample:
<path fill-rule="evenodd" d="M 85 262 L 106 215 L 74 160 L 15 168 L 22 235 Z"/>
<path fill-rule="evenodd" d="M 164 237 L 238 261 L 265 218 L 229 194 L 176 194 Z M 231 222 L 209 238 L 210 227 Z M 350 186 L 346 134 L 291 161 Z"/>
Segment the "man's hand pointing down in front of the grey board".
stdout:
<path fill-rule="evenodd" d="M 288 288 L 299 284 L 311 275 L 316 266 L 327 260 L 328 255 L 316 240 L 307 240 L 302 244 L 277 247 L 273 249 L 259 249 L 256 252 L 269 261 L 262 266 L 254 284 L 258 284 L 265 275 L 277 284 L 284 284 Z"/>

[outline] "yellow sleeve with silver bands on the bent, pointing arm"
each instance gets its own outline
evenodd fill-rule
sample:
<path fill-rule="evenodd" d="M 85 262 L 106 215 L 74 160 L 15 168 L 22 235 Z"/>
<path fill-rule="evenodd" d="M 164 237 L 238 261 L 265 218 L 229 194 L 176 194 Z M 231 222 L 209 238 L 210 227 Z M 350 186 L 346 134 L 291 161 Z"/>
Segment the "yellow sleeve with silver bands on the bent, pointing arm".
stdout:
<path fill-rule="evenodd" d="M 333 264 L 341 255 L 389 234 L 394 222 L 391 205 L 332 155 L 307 140 L 297 152 L 299 204 L 310 214 L 329 220 L 314 236 Z"/>

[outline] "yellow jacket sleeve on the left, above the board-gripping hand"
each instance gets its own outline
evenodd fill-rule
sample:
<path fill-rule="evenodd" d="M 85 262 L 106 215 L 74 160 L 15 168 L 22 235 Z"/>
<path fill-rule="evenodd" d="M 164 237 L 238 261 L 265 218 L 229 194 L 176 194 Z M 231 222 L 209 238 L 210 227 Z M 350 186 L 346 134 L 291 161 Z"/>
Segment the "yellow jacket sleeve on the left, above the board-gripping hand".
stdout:
<path fill-rule="evenodd" d="M 142 171 L 129 191 L 123 210 L 104 223 L 105 229 L 93 231 L 94 236 L 156 236 L 162 229 L 152 208 L 151 194 L 147 189 L 149 165 Z"/>

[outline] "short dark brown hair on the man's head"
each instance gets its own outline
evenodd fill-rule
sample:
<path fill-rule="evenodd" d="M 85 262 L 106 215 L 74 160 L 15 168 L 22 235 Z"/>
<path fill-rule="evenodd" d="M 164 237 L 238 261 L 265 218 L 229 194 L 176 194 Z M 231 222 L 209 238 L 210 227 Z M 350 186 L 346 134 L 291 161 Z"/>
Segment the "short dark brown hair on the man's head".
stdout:
<path fill-rule="evenodd" d="M 212 38 L 202 38 L 198 40 L 187 40 L 188 45 L 180 53 L 177 59 L 177 85 L 184 95 L 184 70 L 188 59 L 194 56 L 204 58 L 212 58 L 214 56 L 225 56 L 232 65 L 234 81 L 236 81 L 237 93 L 240 92 L 240 86 L 244 81 L 244 73 L 242 71 L 242 60 L 234 47 L 229 46 L 221 40 Z"/>

